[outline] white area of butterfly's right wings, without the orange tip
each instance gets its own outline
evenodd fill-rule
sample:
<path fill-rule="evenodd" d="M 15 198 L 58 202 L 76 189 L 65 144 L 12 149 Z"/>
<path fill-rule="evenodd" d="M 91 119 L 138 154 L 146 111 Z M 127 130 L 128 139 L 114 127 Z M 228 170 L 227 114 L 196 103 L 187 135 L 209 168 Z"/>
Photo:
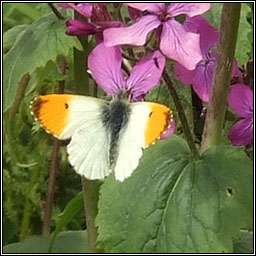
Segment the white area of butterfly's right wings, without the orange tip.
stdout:
<path fill-rule="evenodd" d="M 119 181 L 129 177 L 138 166 L 145 147 L 145 127 L 151 112 L 148 104 L 132 103 L 130 119 L 119 135 L 119 152 L 115 176 Z"/>

